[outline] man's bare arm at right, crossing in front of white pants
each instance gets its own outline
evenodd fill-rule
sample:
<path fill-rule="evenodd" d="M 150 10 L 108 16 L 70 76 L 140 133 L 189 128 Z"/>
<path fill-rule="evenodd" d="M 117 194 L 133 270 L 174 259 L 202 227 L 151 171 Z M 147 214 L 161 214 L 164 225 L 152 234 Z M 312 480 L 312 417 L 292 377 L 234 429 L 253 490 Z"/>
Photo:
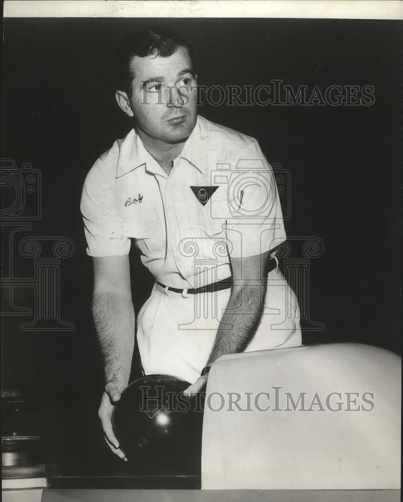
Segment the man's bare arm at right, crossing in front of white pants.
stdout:
<path fill-rule="evenodd" d="M 270 252 L 231 259 L 234 285 L 207 366 L 221 355 L 243 352 L 253 338 L 263 312 L 269 260 Z"/>

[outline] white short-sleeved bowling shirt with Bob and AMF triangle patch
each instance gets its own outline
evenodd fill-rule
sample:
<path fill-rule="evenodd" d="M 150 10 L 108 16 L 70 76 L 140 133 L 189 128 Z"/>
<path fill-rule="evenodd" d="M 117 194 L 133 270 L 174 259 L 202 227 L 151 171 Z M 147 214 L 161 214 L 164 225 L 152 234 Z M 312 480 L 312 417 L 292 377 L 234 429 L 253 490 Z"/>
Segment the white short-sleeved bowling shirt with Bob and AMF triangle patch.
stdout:
<path fill-rule="evenodd" d="M 231 275 L 230 257 L 286 240 L 272 168 L 257 141 L 202 116 L 169 176 L 135 130 L 89 171 L 82 192 L 87 254 L 127 255 L 155 279 L 197 288 Z"/>

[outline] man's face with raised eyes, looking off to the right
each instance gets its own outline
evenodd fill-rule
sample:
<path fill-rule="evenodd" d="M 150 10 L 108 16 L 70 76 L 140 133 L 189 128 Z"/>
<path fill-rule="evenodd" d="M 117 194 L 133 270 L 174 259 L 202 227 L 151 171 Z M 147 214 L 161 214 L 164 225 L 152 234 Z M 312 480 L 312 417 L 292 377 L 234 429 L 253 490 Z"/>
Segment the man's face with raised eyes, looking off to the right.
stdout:
<path fill-rule="evenodd" d="M 168 57 L 133 57 L 130 107 L 147 136 L 166 143 L 185 140 L 196 118 L 196 76 L 186 48 Z"/>

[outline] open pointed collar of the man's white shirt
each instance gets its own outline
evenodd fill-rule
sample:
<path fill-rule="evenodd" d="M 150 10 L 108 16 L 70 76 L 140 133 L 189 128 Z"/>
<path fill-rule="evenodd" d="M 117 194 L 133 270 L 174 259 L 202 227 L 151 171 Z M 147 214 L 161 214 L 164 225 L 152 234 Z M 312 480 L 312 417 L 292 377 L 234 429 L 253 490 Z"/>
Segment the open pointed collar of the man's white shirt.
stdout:
<path fill-rule="evenodd" d="M 191 132 L 189 138 L 183 146 L 179 157 L 187 160 L 193 167 L 201 173 L 205 171 L 205 162 L 203 162 L 203 137 L 204 137 L 204 121 L 200 115 L 197 117 L 196 125 Z M 205 148 L 205 146 L 204 146 Z M 137 169 L 140 166 L 145 166 L 146 171 L 154 174 L 159 174 L 166 177 L 164 170 L 147 152 L 143 145 L 140 136 L 132 129 L 127 136 L 121 141 L 119 146 L 119 157 L 117 160 L 116 178 L 120 178 L 124 174 Z"/>

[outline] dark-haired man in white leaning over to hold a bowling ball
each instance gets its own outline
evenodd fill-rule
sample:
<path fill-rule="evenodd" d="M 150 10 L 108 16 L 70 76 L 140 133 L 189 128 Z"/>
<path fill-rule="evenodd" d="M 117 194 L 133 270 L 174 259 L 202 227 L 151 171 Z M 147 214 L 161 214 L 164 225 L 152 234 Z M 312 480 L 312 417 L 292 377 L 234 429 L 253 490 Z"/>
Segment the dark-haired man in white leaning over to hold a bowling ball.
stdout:
<path fill-rule="evenodd" d="M 253 138 L 197 115 L 188 44 L 145 30 L 116 52 L 116 100 L 133 129 L 100 156 L 81 210 L 93 257 L 93 315 L 106 386 L 106 441 L 125 459 L 111 414 L 126 387 L 135 313 L 130 239 L 156 279 L 138 316 L 146 374 L 201 391 L 221 355 L 301 344 L 298 303 L 274 248 L 286 240 L 270 165 Z"/>

